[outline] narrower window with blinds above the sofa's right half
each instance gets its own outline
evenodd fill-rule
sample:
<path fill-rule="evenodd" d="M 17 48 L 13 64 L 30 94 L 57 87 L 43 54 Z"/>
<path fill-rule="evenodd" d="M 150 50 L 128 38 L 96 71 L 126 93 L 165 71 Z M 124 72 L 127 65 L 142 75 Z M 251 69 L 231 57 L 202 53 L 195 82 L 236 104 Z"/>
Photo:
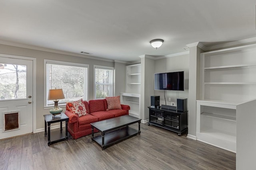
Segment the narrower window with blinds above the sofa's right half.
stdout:
<path fill-rule="evenodd" d="M 113 67 L 94 66 L 94 98 L 113 96 Z"/>

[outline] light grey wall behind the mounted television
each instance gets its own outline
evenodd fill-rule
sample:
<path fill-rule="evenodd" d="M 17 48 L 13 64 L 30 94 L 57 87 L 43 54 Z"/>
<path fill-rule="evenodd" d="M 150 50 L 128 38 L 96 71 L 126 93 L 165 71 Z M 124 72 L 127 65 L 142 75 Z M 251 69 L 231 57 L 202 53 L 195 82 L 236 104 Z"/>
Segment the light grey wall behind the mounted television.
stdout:
<path fill-rule="evenodd" d="M 174 106 L 177 106 L 177 98 L 188 98 L 189 54 L 168 57 L 155 61 L 155 73 L 174 71 L 184 71 L 185 89 L 184 91 L 166 90 L 165 97 L 166 105 L 171 105 L 171 102 L 174 102 Z M 154 95 L 160 96 L 160 105 L 165 105 L 164 90 L 154 90 Z M 168 98 L 171 98 L 171 102 L 168 101 Z"/>

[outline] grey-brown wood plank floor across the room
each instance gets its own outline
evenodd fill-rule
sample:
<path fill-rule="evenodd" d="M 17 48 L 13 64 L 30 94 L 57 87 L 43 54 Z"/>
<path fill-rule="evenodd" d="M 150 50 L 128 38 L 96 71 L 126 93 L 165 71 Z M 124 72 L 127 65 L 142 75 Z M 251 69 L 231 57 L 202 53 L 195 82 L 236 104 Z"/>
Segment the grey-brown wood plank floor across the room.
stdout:
<path fill-rule="evenodd" d="M 138 124 L 131 125 L 138 128 Z M 102 150 L 91 135 L 52 144 L 44 132 L 0 141 L 0 170 L 235 170 L 236 154 L 141 124 L 141 134 Z"/>

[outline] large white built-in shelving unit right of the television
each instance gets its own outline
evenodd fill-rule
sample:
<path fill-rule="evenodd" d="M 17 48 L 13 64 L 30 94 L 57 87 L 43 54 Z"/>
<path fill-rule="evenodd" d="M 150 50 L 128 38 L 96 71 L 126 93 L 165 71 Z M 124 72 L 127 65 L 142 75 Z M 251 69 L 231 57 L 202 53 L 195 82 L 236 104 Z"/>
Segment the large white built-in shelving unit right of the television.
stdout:
<path fill-rule="evenodd" d="M 236 107 L 256 98 L 255 56 L 255 44 L 201 54 L 197 140 L 236 152 Z"/>

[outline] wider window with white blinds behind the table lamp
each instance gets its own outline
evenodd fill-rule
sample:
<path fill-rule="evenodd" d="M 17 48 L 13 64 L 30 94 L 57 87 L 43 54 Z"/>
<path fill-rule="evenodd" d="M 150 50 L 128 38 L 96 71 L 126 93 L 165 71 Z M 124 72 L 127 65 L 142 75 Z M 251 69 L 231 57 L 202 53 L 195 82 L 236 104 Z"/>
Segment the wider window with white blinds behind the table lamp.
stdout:
<path fill-rule="evenodd" d="M 66 102 L 78 99 L 87 100 L 88 96 L 88 65 L 78 63 L 68 63 L 61 61 L 45 60 L 45 104 L 44 106 L 54 106 L 53 101 L 48 101 L 50 89 L 62 88 L 65 99 L 58 102 L 65 105 Z"/>

